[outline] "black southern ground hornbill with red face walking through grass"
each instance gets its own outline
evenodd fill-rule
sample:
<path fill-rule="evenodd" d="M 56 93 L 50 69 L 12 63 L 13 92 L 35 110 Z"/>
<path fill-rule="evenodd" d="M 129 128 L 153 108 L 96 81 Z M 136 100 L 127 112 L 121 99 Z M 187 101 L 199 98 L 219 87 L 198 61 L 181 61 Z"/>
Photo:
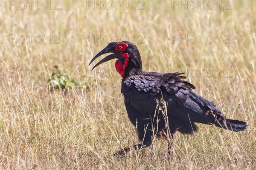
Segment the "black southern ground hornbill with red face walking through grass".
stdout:
<path fill-rule="evenodd" d="M 128 41 L 111 42 L 99 52 L 90 64 L 102 54 L 113 53 L 93 68 L 111 59 L 117 59 L 116 71 L 121 75 L 121 92 L 132 124 L 137 127 L 141 144 L 126 147 L 114 155 L 124 155 L 134 149 L 151 145 L 154 134 L 169 137 L 170 154 L 175 131 L 192 134 L 197 123 L 243 131 L 246 122 L 226 119 L 212 102 L 192 92 L 195 86 L 184 80 L 183 73 L 155 73 L 142 70 L 140 52 Z M 90 65 L 89 64 L 89 65 Z M 167 112 L 167 113 L 166 113 Z M 171 136 L 171 138 L 170 138 Z"/>

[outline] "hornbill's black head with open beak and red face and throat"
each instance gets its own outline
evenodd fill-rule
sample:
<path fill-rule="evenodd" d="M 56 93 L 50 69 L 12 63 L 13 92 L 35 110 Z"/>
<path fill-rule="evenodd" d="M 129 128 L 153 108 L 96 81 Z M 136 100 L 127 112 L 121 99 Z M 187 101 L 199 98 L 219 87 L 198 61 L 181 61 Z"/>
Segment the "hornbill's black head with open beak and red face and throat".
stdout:
<path fill-rule="evenodd" d="M 131 42 L 122 41 L 109 43 L 102 51 L 93 57 L 90 64 L 99 56 L 107 53 L 113 54 L 103 58 L 96 65 L 94 65 L 93 68 L 97 67 L 103 62 L 107 62 L 111 59 L 117 59 L 115 67 L 116 71 L 121 75 L 121 77 L 131 76 L 142 70 L 140 52 L 138 51 L 136 45 Z"/>

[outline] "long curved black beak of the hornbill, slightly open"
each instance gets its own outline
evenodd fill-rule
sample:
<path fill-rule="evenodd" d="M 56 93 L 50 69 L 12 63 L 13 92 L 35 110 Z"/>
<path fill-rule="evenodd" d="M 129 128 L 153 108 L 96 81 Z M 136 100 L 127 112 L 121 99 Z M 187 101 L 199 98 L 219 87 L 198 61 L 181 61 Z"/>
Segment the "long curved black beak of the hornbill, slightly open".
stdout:
<path fill-rule="evenodd" d="M 90 61 L 89 65 L 99 56 L 103 55 L 103 54 L 107 54 L 107 53 L 114 53 L 114 54 L 110 54 L 107 57 L 105 57 L 104 59 L 100 60 L 96 65 L 94 65 L 93 68 L 97 67 L 98 65 L 102 64 L 103 62 L 107 62 L 111 59 L 115 59 L 115 58 L 120 58 L 122 57 L 121 53 L 119 51 L 115 50 L 115 46 L 116 46 L 117 42 L 111 42 L 107 45 L 107 47 L 105 47 L 102 51 L 100 51 L 96 56 L 93 57 L 93 59 Z M 92 68 L 92 70 L 93 70 Z"/>

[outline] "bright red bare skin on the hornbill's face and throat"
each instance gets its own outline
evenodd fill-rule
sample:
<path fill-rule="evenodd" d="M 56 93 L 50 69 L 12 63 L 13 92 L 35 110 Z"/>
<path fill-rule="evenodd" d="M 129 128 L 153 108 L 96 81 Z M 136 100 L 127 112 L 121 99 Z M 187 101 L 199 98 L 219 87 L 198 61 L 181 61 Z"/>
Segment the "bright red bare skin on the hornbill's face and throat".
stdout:
<path fill-rule="evenodd" d="M 121 75 L 121 77 L 125 77 L 125 68 L 127 67 L 128 61 L 129 61 L 128 53 L 123 52 L 127 47 L 128 45 L 123 42 L 116 44 L 116 47 L 115 47 L 116 51 L 120 51 L 122 53 L 122 57 L 125 58 L 124 63 L 122 63 L 122 61 L 119 59 L 116 60 L 116 63 L 115 63 L 116 71 Z"/>

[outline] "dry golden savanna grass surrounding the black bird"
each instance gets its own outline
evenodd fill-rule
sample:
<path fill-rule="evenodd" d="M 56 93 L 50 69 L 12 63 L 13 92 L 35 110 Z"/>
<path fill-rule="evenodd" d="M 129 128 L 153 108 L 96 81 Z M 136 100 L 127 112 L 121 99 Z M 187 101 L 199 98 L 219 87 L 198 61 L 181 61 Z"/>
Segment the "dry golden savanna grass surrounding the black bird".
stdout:
<path fill-rule="evenodd" d="M 256 169 L 256 1 L 23 2 L 0 1 L 0 169 Z M 175 134 L 172 160 L 163 139 L 114 157 L 139 142 L 136 129 L 114 61 L 88 64 L 121 40 L 137 45 L 145 71 L 185 72 L 247 130 L 198 124 Z M 65 74 L 55 87 L 73 83 L 52 88 L 52 73 Z"/>

